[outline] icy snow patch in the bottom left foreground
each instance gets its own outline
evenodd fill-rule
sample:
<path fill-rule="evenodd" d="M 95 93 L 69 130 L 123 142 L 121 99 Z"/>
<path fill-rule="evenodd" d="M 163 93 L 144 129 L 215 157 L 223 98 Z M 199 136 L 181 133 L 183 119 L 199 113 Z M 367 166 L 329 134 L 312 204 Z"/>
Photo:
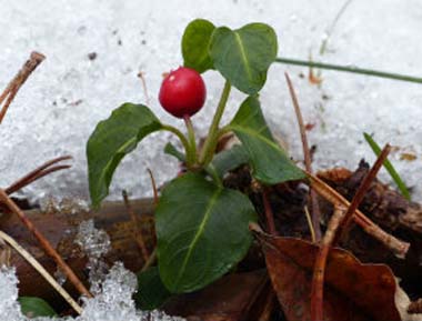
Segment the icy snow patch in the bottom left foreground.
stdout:
<path fill-rule="evenodd" d="M 169 317 L 162 311 L 140 311 L 132 300 L 137 291 L 137 275 L 117 262 L 111 269 L 102 261 L 110 249 L 110 239 L 105 231 L 94 227 L 92 220 L 79 225 L 76 243 L 88 257 L 89 281 L 93 299 L 83 298 L 83 312 L 78 318 L 37 318 L 37 321 L 183 321 Z M 0 269 L 0 320 L 28 321 L 20 311 L 18 299 L 18 279 L 13 268 Z"/>

